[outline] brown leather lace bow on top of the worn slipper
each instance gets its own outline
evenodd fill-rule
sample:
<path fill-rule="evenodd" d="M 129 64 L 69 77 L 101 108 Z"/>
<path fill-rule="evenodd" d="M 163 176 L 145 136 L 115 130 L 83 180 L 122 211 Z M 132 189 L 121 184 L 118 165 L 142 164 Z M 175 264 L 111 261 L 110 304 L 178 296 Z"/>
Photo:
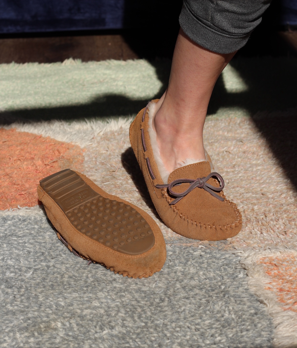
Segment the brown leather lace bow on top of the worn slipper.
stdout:
<path fill-rule="evenodd" d="M 211 177 L 216 177 L 218 179 L 218 181 L 220 182 L 220 187 L 215 187 L 215 186 L 207 183 L 207 180 L 209 180 Z M 172 188 L 174 186 L 177 186 L 177 185 L 180 185 L 180 184 L 183 184 L 183 183 L 186 183 L 186 182 L 190 183 L 191 185 L 184 192 L 176 193 L 176 192 L 172 191 Z M 219 195 L 217 195 L 213 191 L 220 192 L 220 191 L 223 190 L 224 186 L 225 186 L 225 183 L 224 183 L 224 179 L 222 178 L 222 176 L 220 174 L 216 173 L 216 172 L 212 172 L 212 173 L 208 174 L 206 177 L 205 176 L 204 177 L 198 177 L 196 180 L 193 180 L 193 179 L 176 179 L 176 180 L 172 181 L 170 184 L 162 184 L 162 185 L 158 184 L 158 185 L 156 185 L 156 188 L 161 189 L 163 187 L 167 187 L 168 191 L 171 193 L 171 195 L 173 197 L 177 197 L 170 203 L 170 204 L 175 204 L 175 203 L 178 203 L 179 200 L 181 200 L 184 196 L 186 196 L 189 192 L 191 192 L 196 187 L 198 187 L 200 189 L 206 190 L 207 192 L 209 192 L 215 198 L 220 199 L 221 201 L 223 201 L 224 198 L 219 196 Z"/>

